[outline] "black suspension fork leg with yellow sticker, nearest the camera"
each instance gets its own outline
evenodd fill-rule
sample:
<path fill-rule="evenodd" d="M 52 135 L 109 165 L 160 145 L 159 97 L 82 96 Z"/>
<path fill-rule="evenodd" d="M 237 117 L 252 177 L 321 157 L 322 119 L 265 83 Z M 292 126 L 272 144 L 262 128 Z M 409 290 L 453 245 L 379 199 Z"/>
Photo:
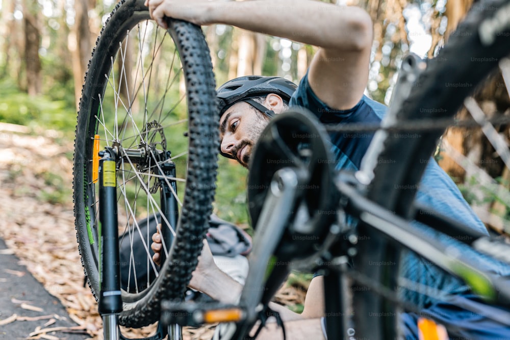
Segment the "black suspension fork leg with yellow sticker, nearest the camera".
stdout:
<path fill-rule="evenodd" d="M 117 152 L 99 152 L 99 314 L 105 340 L 118 340 L 118 313 L 122 311 L 117 220 Z"/>

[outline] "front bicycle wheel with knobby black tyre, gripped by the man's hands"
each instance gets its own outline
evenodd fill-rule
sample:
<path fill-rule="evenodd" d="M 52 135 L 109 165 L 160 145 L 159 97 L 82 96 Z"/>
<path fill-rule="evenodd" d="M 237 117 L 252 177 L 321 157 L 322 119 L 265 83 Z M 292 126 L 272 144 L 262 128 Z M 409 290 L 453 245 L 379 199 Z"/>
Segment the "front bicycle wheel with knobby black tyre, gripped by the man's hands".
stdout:
<path fill-rule="evenodd" d="M 184 296 L 209 226 L 216 180 L 219 128 L 209 48 L 198 26 L 168 24 L 163 30 L 149 20 L 143 0 L 116 6 L 89 63 L 74 145 L 77 238 L 96 299 L 99 186 L 93 155 L 106 146 L 117 149 L 119 247 L 129 252 L 121 276 L 130 287 L 122 291 L 119 323 L 135 328 L 159 320 L 161 299 Z M 176 174 L 164 178 L 162 168 L 169 164 Z M 169 181 L 175 182 L 178 223 L 161 218 L 160 191 L 165 183 L 171 187 Z M 154 219 L 175 234 L 161 270 L 151 259 L 151 232 L 140 222 Z"/>

